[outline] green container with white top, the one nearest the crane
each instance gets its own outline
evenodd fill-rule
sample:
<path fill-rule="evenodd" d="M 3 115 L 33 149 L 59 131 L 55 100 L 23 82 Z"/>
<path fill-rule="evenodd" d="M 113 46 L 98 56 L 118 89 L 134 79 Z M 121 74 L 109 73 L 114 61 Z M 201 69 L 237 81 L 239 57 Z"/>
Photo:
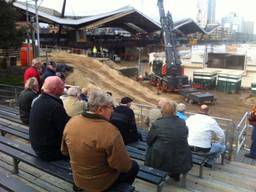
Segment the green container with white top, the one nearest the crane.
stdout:
<path fill-rule="evenodd" d="M 208 71 L 194 71 L 193 83 L 201 85 L 207 89 L 214 89 L 216 87 L 217 72 Z"/>

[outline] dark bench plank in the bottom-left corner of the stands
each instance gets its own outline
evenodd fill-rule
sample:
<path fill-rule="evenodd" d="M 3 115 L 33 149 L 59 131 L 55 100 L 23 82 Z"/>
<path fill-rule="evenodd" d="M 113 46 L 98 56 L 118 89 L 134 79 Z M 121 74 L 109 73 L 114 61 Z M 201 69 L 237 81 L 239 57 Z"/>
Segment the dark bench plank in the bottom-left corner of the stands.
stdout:
<path fill-rule="evenodd" d="M 26 185 L 22 181 L 15 179 L 8 173 L 0 173 L 0 191 L 26 191 L 26 192 L 36 192 L 37 190 Z"/>

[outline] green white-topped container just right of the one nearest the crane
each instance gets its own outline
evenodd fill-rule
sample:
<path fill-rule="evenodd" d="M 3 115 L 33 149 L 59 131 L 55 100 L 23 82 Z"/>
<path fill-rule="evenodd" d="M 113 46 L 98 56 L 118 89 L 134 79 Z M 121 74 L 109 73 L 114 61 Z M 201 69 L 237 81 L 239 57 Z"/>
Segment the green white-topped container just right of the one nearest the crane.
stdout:
<path fill-rule="evenodd" d="M 241 88 L 241 75 L 218 74 L 217 90 L 237 93 Z"/>

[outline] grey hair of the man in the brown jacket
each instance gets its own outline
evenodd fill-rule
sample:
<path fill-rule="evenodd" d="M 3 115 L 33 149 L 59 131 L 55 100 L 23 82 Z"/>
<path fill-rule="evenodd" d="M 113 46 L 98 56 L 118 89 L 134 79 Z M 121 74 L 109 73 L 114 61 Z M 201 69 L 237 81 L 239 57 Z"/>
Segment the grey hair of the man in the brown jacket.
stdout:
<path fill-rule="evenodd" d="M 112 105 L 113 99 L 105 91 L 94 90 L 88 99 L 89 110 L 95 112 L 98 107 Z"/>

